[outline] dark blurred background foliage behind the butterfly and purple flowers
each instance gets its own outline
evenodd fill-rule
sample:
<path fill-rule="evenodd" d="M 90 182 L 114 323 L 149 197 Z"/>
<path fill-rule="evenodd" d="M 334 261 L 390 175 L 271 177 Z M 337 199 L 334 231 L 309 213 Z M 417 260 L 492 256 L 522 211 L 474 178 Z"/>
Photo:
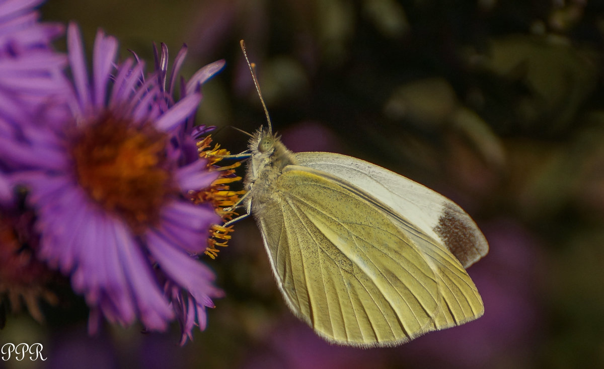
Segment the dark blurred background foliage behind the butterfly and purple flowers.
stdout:
<path fill-rule="evenodd" d="M 265 118 L 245 39 L 290 149 L 374 162 L 474 217 L 490 243 L 469 268 L 486 312 L 396 348 L 326 344 L 284 304 L 248 219 L 204 260 L 226 297 L 185 347 L 176 324 L 89 338 L 76 301 L 47 309 L 45 326 L 9 316 L 3 341 L 42 342 L 48 360 L 0 367 L 604 367 L 604 2 L 48 0 L 41 11 L 77 21 L 89 50 L 97 27 L 149 62 L 153 41 L 172 56 L 185 42 L 185 77 L 226 59 L 198 121 L 251 132 Z M 235 130 L 213 136 L 246 148 Z"/>

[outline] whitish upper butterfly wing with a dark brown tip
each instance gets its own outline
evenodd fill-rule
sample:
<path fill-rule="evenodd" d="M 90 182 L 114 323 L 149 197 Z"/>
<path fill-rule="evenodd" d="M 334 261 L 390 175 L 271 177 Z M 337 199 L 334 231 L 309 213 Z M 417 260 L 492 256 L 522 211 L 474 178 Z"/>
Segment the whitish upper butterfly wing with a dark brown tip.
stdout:
<path fill-rule="evenodd" d="M 489 252 L 478 226 L 457 204 L 411 179 L 352 156 L 294 153 L 299 165 L 330 173 L 388 204 L 408 221 L 408 232 L 428 236 L 449 248 L 467 268 Z"/>

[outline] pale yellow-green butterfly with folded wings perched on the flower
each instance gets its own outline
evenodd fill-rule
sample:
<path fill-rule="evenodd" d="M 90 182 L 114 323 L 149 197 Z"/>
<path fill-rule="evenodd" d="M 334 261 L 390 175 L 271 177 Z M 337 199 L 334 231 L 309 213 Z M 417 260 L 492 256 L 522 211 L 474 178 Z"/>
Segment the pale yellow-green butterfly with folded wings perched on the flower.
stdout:
<path fill-rule="evenodd" d="M 329 342 L 402 344 L 484 313 L 466 272 L 487 254 L 480 229 L 445 196 L 378 165 L 289 151 L 266 126 L 249 140 L 238 207 L 262 234 L 289 308 Z"/>

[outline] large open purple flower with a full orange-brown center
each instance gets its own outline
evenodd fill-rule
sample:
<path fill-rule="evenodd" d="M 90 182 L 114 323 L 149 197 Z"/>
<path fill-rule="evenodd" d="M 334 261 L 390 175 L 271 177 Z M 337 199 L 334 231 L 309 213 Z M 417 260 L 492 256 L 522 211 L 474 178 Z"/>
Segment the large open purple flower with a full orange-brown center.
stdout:
<path fill-rule="evenodd" d="M 149 330 L 186 316 L 190 336 L 222 296 L 195 256 L 220 217 L 189 199 L 218 174 L 185 153 L 184 126 L 201 101 L 199 85 L 223 63 L 173 101 L 164 69 L 145 78 L 138 58 L 115 65 L 117 40 L 102 31 L 89 76 L 79 29 L 70 24 L 67 33 L 69 93 L 53 99 L 42 122 L 21 124 L 19 135 L 0 130 L 1 160 L 37 212 L 39 256 L 71 275 L 91 307 L 91 332 L 101 316 L 122 325 L 140 319 Z"/>

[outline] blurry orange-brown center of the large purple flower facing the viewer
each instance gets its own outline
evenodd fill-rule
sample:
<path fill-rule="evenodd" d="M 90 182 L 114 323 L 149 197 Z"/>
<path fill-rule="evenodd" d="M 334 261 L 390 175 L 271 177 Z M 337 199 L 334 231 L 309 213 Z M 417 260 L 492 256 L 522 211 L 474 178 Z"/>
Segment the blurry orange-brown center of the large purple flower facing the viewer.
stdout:
<path fill-rule="evenodd" d="M 151 124 L 105 114 L 77 134 L 73 155 L 79 184 L 105 210 L 143 231 L 175 192 L 167 165 L 168 136 Z"/>

